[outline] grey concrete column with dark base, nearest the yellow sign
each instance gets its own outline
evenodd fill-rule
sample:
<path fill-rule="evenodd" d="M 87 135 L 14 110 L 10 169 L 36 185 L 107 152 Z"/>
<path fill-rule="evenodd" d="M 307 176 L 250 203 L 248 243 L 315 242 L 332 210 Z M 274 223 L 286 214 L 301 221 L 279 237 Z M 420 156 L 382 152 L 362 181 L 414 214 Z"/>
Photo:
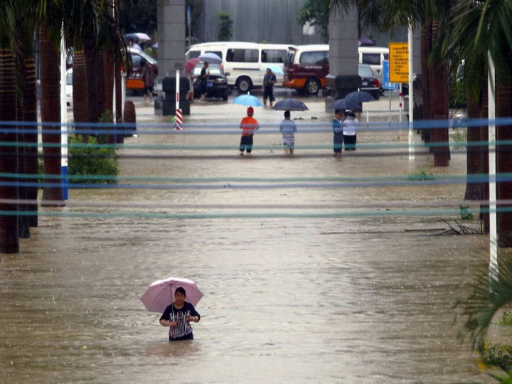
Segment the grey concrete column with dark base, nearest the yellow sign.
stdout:
<path fill-rule="evenodd" d="M 358 75 L 358 10 L 351 7 L 347 15 L 331 14 L 329 20 L 329 94 L 345 97 L 361 86 Z"/>

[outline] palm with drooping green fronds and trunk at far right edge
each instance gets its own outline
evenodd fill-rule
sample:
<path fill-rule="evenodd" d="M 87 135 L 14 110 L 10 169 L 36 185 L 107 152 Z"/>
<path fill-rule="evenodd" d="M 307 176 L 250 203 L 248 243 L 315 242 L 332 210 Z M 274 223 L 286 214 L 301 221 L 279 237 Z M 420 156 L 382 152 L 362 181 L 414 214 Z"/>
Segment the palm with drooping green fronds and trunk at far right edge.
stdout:
<path fill-rule="evenodd" d="M 464 76 L 471 76 L 468 92 L 471 102 L 484 107 L 487 57 L 496 65 L 496 117 L 512 115 L 512 4 L 506 0 L 460 0 L 452 15 L 453 32 L 447 55 L 464 58 Z M 468 77 L 469 78 L 469 77 Z M 512 198 L 512 183 L 500 180 L 511 172 L 512 139 L 510 124 L 496 124 L 496 171 L 498 173 L 498 245 L 512 247 L 511 206 L 499 203 Z M 481 132 L 480 138 L 484 139 Z M 486 137 L 485 137 L 486 140 Z M 483 152 L 483 151 L 482 151 Z M 484 161 L 481 161 L 484 164 Z M 484 170 L 484 169 L 483 169 Z M 484 170 L 485 171 L 485 170 Z M 489 195 L 487 195 L 489 196 Z"/>

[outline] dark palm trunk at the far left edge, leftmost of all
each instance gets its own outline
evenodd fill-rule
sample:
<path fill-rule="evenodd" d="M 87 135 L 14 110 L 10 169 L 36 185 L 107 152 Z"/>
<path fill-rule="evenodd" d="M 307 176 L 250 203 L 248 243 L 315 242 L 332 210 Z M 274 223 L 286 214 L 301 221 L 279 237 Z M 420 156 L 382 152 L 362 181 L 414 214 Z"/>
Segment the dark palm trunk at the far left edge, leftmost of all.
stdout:
<path fill-rule="evenodd" d="M 6 44 L 0 41 L 0 122 L 16 120 L 16 78 L 14 55 Z M 18 159 L 16 154 L 16 132 L 13 125 L 0 126 L 0 173 L 16 174 Z M 8 130 L 8 131 L 7 131 Z M 9 145 L 11 144 L 11 145 Z M 2 183 L 12 183 L 0 187 L 0 210 L 11 214 L 0 215 L 0 253 L 18 253 L 18 187 L 14 178 L 0 176 Z M 11 203 L 9 203 L 9 201 Z"/>

